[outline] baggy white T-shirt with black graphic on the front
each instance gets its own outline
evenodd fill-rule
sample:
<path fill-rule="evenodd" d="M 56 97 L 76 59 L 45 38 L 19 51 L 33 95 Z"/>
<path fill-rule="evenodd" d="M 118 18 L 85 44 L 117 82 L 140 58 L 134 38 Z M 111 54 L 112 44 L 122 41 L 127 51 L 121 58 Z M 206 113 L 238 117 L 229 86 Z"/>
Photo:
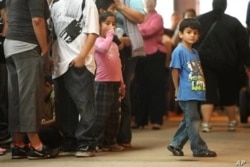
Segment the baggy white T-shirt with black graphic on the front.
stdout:
<path fill-rule="evenodd" d="M 54 60 L 53 78 L 57 78 L 68 70 L 70 62 L 80 53 L 87 34 L 99 34 L 99 15 L 93 0 L 85 1 L 84 10 L 82 10 L 82 0 L 56 1 L 51 4 L 50 9 L 54 31 L 57 36 L 57 40 L 52 46 L 52 57 Z M 81 16 L 83 18 L 80 20 Z M 79 29 L 76 28 L 75 24 L 72 24 L 74 20 L 80 20 Z M 72 26 L 69 26 L 70 24 Z M 70 32 L 74 34 L 78 31 L 80 31 L 77 34 L 78 36 L 71 40 Z M 86 57 L 85 66 L 94 74 L 93 49 Z"/>

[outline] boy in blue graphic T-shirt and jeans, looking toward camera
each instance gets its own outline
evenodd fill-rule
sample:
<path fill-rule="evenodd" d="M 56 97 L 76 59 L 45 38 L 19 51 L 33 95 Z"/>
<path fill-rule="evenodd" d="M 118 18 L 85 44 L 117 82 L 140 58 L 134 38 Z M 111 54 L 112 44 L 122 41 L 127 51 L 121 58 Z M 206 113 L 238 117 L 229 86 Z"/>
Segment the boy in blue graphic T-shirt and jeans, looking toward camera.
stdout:
<path fill-rule="evenodd" d="M 177 101 L 184 112 L 184 118 L 167 147 L 174 156 L 184 156 L 182 148 L 190 140 L 194 157 L 216 157 L 214 151 L 199 134 L 199 102 L 205 98 L 205 80 L 197 50 L 193 44 L 199 38 L 200 23 L 196 19 L 184 19 L 179 27 L 181 43 L 171 56 L 170 67 Z"/>

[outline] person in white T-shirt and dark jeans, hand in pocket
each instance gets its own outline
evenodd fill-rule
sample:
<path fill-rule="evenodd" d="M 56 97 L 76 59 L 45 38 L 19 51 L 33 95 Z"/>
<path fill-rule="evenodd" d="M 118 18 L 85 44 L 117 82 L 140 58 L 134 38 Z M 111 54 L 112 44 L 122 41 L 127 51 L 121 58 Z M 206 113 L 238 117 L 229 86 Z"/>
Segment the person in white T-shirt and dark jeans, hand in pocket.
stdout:
<path fill-rule="evenodd" d="M 55 32 L 55 117 L 63 135 L 59 155 L 94 156 L 96 66 L 92 48 L 99 35 L 98 10 L 93 0 L 54 0 L 50 9 Z"/>

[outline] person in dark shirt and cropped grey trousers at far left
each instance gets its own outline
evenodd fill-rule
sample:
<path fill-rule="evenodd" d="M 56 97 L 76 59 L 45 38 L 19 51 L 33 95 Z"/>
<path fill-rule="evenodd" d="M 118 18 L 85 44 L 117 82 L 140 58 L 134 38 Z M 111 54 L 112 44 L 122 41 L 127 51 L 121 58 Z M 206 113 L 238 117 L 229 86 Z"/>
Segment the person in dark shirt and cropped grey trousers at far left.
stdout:
<path fill-rule="evenodd" d="M 4 52 L 8 70 L 9 129 L 13 134 L 12 159 L 52 158 L 57 150 L 45 146 L 38 136 L 43 110 L 43 66 L 48 52 L 48 4 L 45 0 L 8 0 L 6 9 L 8 31 Z M 30 147 L 25 145 L 23 133 L 27 134 Z"/>

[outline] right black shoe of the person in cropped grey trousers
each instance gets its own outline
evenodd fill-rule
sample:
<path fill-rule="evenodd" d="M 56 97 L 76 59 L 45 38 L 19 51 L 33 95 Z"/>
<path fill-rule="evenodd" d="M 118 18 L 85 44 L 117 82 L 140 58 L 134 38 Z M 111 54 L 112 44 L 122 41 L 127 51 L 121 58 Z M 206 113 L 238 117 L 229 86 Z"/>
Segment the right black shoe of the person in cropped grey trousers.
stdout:
<path fill-rule="evenodd" d="M 41 151 L 36 150 L 35 148 L 31 147 L 30 151 L 28 152 L 28 159 L 46 159 L 46 158 L 54 158 L 57 156 L 59 149 L 50 149 L 43 145 Z"/>

